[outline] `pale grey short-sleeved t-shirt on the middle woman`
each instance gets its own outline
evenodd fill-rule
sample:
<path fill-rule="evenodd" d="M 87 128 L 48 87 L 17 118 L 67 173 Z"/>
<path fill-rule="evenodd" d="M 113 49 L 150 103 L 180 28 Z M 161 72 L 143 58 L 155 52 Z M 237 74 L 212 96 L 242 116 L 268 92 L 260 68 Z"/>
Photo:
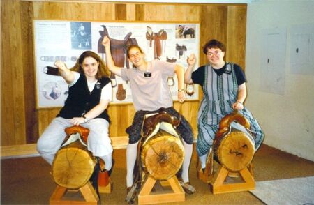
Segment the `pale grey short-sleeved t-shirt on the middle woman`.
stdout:
<path fill-rule="evenodd" d="M 160 107 L 171 107 L 172 96 L 167 84 L 167 77 L 174 75 L 175 63 L 154 60 L 147 71 L 137 68 L 121 70 L 121 77 L 130 82 L 135 111 L 154 111 Z M 151 77 L 145 77 L 145 72 L 151 72 Z"/>

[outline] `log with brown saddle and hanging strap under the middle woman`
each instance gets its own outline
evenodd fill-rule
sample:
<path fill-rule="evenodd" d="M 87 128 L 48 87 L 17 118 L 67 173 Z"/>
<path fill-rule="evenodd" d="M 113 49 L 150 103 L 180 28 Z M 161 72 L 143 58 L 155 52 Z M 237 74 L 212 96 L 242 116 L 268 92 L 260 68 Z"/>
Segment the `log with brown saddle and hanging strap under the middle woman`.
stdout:
<path fill-rule="evenodd" d="M 179 123 L 177 117 L 165 111 L 144 116 L 142 138 L 137 146 L 135 180 L 126 202 L 133 203 L 140 192 L 142 174 L 156 181 L 165 181 L 179 172 L 184 161 L 184 146 L 176 130 Z"/>

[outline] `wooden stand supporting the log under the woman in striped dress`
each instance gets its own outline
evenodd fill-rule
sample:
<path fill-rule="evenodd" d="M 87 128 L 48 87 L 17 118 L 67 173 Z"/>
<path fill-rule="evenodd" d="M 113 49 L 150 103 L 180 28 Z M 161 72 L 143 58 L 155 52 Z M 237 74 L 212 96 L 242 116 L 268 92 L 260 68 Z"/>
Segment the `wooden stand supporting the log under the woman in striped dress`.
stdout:
<path fill-rule="evenodd" d="M 248 167 L 241 169 L 239 172 L 232 172 L 239 174 L 243 183 L 224 183 L 229 171 L 225 167 L 220 167 L 219 171 L 214 174 L 214 183 L 211 183 L 211 191 L 213 194 L 227 193 L 227 192 L 243 192 L 255 189 L 255 181 L 253 172 L 248 171 Z"/>

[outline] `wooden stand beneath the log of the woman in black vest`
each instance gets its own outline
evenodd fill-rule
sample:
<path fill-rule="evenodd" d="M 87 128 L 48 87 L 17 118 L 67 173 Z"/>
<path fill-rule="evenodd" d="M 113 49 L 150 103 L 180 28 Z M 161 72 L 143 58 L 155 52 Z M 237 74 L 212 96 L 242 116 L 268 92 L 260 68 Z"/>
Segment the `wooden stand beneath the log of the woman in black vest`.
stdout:
<path fill-rule="evenodd" d="M 66 194 L 68 191 L 67 188 L 63 188 L 59 185 L 57 185 L 57 188 L 52 193 L 52 196 L 50 197 L 50 204 L 91 204 L 91 205 L 97 205 L 98 204 L 98 196 L 96 194 L 96 191 L 94 190 L 91 183 L 88 181 L 85 185 L 83 185 L 80 189 L 80 192 L 82 196 L 84 197 L 85 201 L 71 201 L 71 200 L 63 200 L 62 197 Z"/>

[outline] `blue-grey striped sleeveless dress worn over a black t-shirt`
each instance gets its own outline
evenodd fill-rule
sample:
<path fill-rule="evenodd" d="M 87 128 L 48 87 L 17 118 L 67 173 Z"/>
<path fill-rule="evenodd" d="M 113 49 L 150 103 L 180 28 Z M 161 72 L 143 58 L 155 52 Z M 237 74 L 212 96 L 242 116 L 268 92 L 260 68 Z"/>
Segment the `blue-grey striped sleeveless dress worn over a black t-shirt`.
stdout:
<path fill-rule="evenodd" d="M 219 128 L 220 120 L 225 115 L 233 112 L 232 104 L 237 101 L 238 84 L 234 64 L 227 63 L 226 66 L 227 70 L 231 70 L 231 75 L 227 73 L 217 75 L 210 65 L 207 65 L 204 69 L 204 84 L 202 86 L 204 95 L 197 114 L 198 136 L 196 147 L 199 156 L 209 152 Z M 264 133 L 246 107 L 239 112 L 251 123 L 251 131 L 255 136 L 255 150 L 257 150 L 262 144 Z"/>

